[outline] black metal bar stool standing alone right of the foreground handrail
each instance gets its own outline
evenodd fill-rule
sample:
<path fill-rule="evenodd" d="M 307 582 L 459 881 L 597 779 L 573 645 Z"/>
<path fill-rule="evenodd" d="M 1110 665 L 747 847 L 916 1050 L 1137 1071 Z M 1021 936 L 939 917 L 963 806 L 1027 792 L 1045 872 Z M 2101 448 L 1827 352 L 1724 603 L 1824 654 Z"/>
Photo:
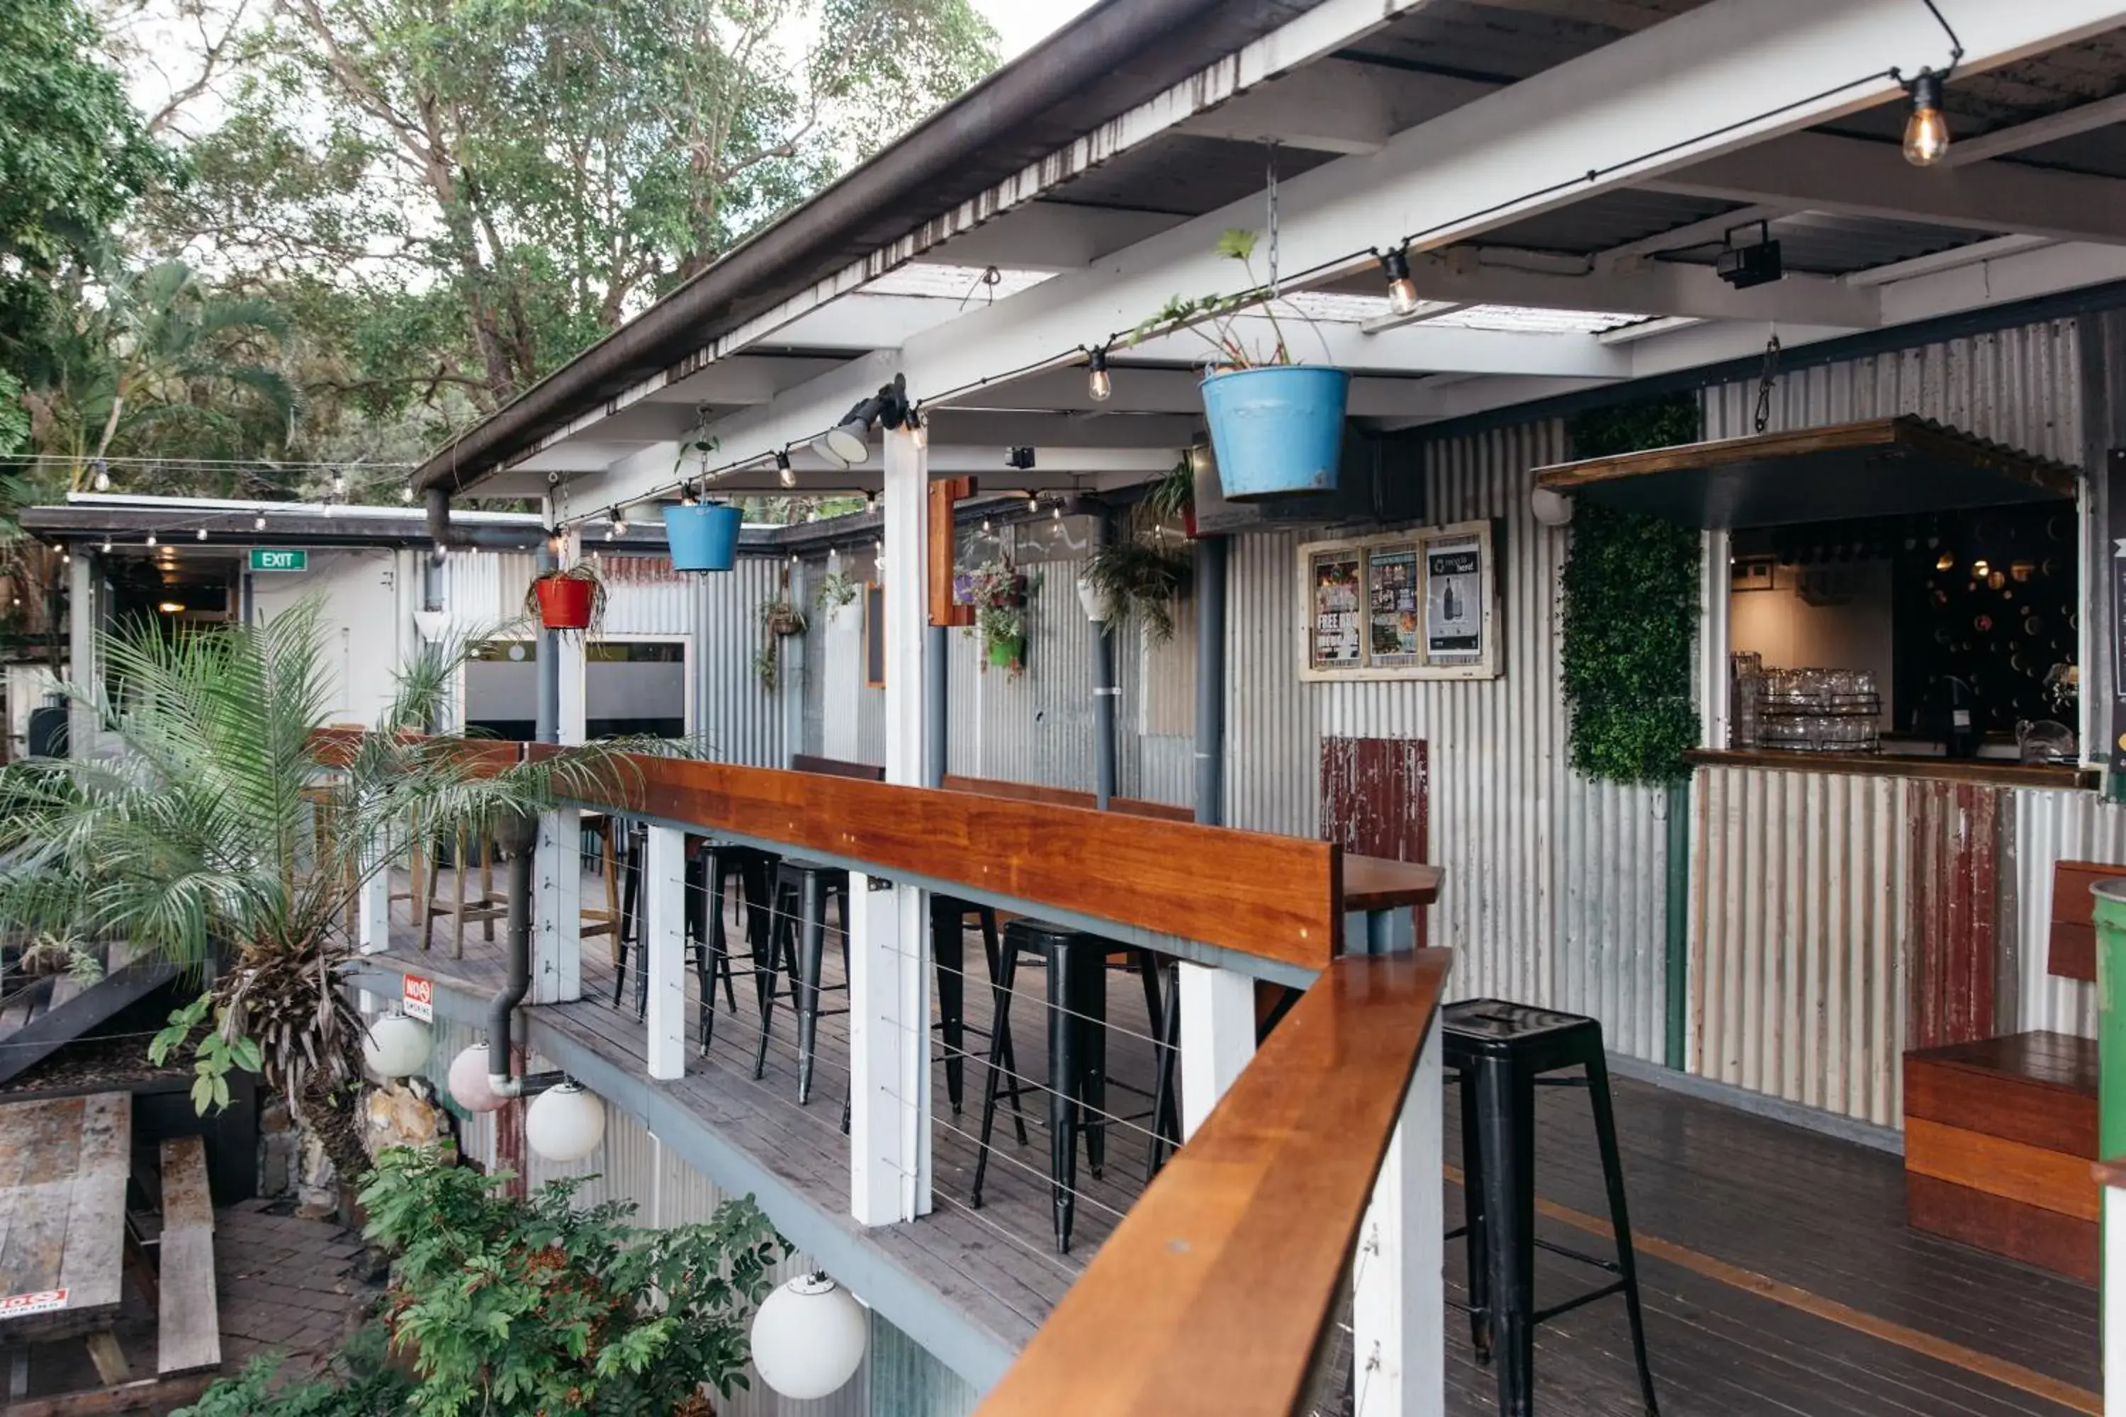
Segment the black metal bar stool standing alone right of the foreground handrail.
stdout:
<path fill-rule="evenodd" d="M 1499 1413 L 1535 1411 L 1535 1326 L 1609 1294 L 1624 1296 L 1631 1351 L 1639 1364 L 1646 1413 L 1656 1417 L 1654 1372 L 1646 1364 L 1646 1326 L 1639 1315 L 1639 1266 L 1624 1211 L 1624 1171 L 1616 1154 L 1616 1115 L 1609 1109 L 1609 1066 L 1601 1024 L 1577 1013 L 1552 1013 L 1499 998 L 1471 998 L 1439 1013 L 1441 1054 L 1461 1075 L 1463 1196 L 1469 1224 L 1448 1239 L 1467 1236 L 1469 1336 L 1478 1362 L 1499 1351 Z M 1584 1069 L 1584 1077 L 1543 1077 Z M 1594 1109 L 1603 1183 L 1609 1190 L 1609 1226 L 1616 1260 L 1565 1249 L 1535 1239 L 1535 1088 L 1586 1088 Z M 1607 1283 L 1550 1309 L 1535 1307 L 1535 1249 L 1548 1249 L 1616 1275 Z M 1458 1304 L 1456 1304 L 1458 1307 Z"/>

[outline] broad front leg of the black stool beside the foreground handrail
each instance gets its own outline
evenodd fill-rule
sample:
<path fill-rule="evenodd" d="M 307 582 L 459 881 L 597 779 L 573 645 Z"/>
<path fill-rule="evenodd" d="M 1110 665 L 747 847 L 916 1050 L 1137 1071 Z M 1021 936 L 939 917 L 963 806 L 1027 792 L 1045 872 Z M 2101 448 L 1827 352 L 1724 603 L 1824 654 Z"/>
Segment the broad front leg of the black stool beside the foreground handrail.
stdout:
<path fill-rule="evenodd" d="M 1490 1260 L 1499 1417 L 1535 1411 L 1535 1096 L 1512 1062 L 1478 1069 L 1484 1107 L 1484 1228 Z"/>

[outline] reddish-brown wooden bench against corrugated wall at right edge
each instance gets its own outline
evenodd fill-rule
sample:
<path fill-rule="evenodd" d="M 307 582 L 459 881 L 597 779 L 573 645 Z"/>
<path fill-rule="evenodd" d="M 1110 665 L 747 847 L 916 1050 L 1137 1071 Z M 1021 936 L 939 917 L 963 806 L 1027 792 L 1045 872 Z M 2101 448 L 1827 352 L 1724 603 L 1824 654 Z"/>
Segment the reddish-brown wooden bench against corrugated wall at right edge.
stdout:
<path fill-rule="evenodd" d="M 2090 886 L 2126 867 L 2052 873 L 2047 973 L 2096 977 Z M 2096 1039 L 2015 1032 L 1905 1054 L 1905 1219 L 2096 1283 Z"/>

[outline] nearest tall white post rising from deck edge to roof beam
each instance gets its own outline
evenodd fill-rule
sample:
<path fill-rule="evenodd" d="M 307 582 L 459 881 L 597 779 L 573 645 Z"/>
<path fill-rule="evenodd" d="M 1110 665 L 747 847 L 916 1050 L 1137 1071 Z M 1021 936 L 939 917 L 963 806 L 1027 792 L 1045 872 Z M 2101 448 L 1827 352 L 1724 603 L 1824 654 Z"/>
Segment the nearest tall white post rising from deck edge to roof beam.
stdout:
<path fill-rule="evenodd" d="M 882 433 L 887 782 L 923 782 L 929 455 Z M 850 873 L 850 1213 L 884 1226 L 931 1209 L 929 899 Z"/>

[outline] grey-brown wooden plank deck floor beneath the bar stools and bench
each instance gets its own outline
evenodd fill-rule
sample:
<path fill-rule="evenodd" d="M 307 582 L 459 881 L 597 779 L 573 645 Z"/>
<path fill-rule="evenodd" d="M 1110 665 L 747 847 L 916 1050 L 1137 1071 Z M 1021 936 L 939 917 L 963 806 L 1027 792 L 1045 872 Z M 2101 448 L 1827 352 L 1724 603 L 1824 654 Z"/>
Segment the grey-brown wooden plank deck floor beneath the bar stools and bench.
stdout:
<path fill-rule="evenodd" d="M 585 892 L 591 899 L 591 892 Z M 449 958 L 449 922 L 421 956 L 400 926 L 395 956 L 442 979 L 491 988 L 500 947 L 470 933 L 466 958 Z M 967 1013 L 986 1028 L 982 952 L 969 939 Z M 408 960 L 410 962 L 410 960 Z M 829 941 L 827 984 L 842 981 Z M 1044 1015 L 1040 971 L 1020 971 L 1012 1028 L 1020 1066 L 1040 1071 Z M 551 1026 L 600 1054 L 640 1066 L 634 975 L 625 1007 L 612 1007 L 612 967 L 602 941 L 585 950 L 576 1005 L 542 1009 Z M 693 979 L 689 977 L 689 996 Z M 670 1083 L 685 1105 L 744 1147 L 827 1213 L 846 1211 L 848 1139 L 840 1130 L 848 1083 L 846 1018 L 821 1020 L 814 1094 L 795 1100 L 795 1026 L 776 1009 L 765 1077 L 753 1079 L 759 1037 L 750 981 L 740 1011 L 719 998 L 714 1043 L 689 1047 L 687 1077 Z M 844 1003 L 829 994 L 825 1007 Z M 1133 975 L 1108 990 L 1110 1071 L 1150 1086 L 1152 1049 Z M 912 1226 L 870 1232 L 980 1328 L 1023 1345 L 1069 1287 L 1114 1219 L 1144 1185 L 1142 1124 L 1116 1124 L 1101 1177 L 1080 1168 L 1074 1253 L 1050 1241 L 1046 1105 L 1027 1094 L 1029 1145 L 999 1115 L 984 1207 L 969 1205 L 980 1120 L 984 1041 L 967 1047 L 965 1111 L 946 1105 L 935 1077 L 938 1211 Z M 1616 1079 L 1616 1111 L 1639 1241 L 1648 1341 L 1667 1417 L 2054 1417 L 2100 1413 L 2096 1398 L 2096 1294 L 2026 1266 L 1916 1234 L 1903 1224 L 1903 1166 L 1894 1156 L 1792 1128 L 1648 1083 Z M 1129 1092 L 1110 1103 L 1144 1111 Z M 1548 1090 L 1537 1124 L 1539 1230 L 1563 1245 L 1605 1253 L 1601 1168 L 1586 1098 Z M 1458 1224 L 1458 1117 L 1448 1096 L 1448 1211 Z M 1543 1253 L 1539 1302 L 1575 1294 L 1599 1275 Z M 1458 1243 L 1448 1253 L 1448 1294 L 1465 1298 Z M 1473 1362 L 1467 1324 L 1448 1315 L 1448 1413 L 1495 1411 L 1495 1379 Z M 1641 1411 L 1620 1300 L 1603 1300 L 1546 1324 L 1537 1336 L 1537 1411 L 1609 1417 Z"/>

